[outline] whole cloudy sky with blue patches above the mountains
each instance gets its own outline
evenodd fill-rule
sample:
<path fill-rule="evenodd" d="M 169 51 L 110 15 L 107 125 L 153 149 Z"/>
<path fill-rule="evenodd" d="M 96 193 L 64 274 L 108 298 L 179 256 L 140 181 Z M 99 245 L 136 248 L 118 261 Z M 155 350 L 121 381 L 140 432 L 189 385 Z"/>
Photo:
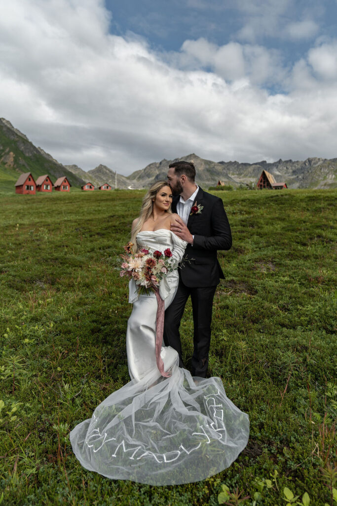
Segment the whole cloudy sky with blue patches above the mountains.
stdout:
<path fill-rule="evenodd" d="M 337 0 L 0 5 L 0 117 L 64 164 L 337 157 Z"/>

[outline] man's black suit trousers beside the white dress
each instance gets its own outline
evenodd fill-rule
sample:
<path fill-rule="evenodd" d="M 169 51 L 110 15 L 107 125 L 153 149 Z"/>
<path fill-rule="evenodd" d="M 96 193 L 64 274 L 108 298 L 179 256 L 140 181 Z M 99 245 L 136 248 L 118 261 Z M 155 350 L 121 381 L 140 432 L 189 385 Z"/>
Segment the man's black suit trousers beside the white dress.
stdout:
<path fill-rule="evenodd" d="M 178 352 L 179 366 L 183 367 L 179 327 L 187 299 L 190 296 L 194 323 L 194 351 L 191 359 L 193 376 L 206 376 L 215 290 L 216 286 L 198 288 L 185 286 L 180 278 L 176 296 L 165 311 L 164 343 Z"/>

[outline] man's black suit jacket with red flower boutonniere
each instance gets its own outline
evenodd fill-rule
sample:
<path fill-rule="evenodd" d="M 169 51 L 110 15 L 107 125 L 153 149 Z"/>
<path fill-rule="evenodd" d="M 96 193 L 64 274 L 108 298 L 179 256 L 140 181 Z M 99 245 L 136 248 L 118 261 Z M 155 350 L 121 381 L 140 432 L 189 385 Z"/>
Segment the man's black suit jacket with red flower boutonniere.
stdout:
<path fill-rule="evenodd" d="M 172 211 L 177 212 L 180 196 L 173 197 Z M 201 214 L 190 215 L 187 228 L 194 235 L 193 245 L 187 244 L 179 275 L 185 286 L 215 286 L 224 278 L 217 250 L 230 249 L 232 236 L 221 198 L 199 187 L 196 200 L 204 208 Z M 195 203 L 195 202 L 194 202 Z"/>

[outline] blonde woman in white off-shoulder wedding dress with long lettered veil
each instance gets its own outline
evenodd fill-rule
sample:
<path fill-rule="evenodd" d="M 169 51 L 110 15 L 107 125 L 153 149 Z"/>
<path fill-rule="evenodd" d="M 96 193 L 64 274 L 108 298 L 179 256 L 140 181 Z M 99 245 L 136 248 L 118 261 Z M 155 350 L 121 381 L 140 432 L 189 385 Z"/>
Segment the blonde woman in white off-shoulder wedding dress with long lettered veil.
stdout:
<path fill-rule="evenodd" d="M 170 186 L 154 183 L 132 223 L 131 242 L 137 249 L 170 248 L 178 263 L 186 242 L 170 231 L 177 217 L 171 213 L 171 202 Z M 178 279 L 174 270 L 160 282 L 165 309 Z M 173 348 L 158 349 L 154 292 L 138 294 L 131 280 L 129 302 L 133 309 L 126 349 L 131 381 L 71 431 L 76 457 L 86 469 L 108 478 L 150 485 L 190 483 L 219 473 L 245 448 L 248 415 L 227 398 L 219 377 L 192 377 L 178 366 Z"/>

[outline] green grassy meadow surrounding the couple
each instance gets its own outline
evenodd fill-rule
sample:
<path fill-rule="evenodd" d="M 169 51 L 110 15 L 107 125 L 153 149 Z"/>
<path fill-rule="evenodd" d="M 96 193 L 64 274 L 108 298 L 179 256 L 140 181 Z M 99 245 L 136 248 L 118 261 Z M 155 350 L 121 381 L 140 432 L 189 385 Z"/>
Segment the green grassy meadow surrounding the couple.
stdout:
<path fill-rule="evenodd" d="M 129 381 L 118 255 L 142 195 L 0 195 L 0 504 L 217 505 L 226 485 L 250 496 L 229 504 L 286 504 L 287 487 L 332 506 L 336 190 L 218 192 L 233 247 L 219 252 L 209 375 L 251 420 L 233 465 L 152 487 L 88 472 L 72 454 L 69 431 Z M 190 305 L 182 336 L 188 367 Z"/>

